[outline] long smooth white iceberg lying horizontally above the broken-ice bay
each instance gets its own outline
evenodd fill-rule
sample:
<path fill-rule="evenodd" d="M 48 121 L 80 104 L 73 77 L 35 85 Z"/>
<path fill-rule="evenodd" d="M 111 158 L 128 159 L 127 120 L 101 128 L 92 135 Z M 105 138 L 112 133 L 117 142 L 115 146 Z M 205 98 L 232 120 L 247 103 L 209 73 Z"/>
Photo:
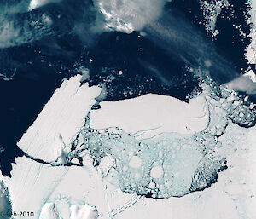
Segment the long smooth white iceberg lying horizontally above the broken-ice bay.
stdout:
<path fill-rule="evenodd" d="M 90 112 L 91 128 L 119 127 L 137 140 L 166 132 L 194 134 L 205 130 L 209 122 L 207 101 L 202 96 L 189 104 L 172 96 L 148 94 L 100 105 Z"/>

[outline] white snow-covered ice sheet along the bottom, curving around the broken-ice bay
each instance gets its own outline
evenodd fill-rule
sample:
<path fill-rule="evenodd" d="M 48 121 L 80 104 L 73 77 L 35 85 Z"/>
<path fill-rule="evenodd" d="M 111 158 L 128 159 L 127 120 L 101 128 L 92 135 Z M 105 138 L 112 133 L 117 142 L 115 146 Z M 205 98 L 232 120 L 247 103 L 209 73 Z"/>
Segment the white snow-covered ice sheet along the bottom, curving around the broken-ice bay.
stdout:
<path fill-rule="evenodd" d="M 219 148 L 229 168 L 219 174 L 218 182 L 212 187 L 183 198 L 147 199 L 123 193 L 113 159 L 102 159 L 95 168 L 88 152 L 84 155 L 84 167 L 49 167 L 20 158 L 14 176 L 4 182 L 9 187 L 13 210 L 23 207 L 39 214 L 38 209 L 44 205 L 40 218 L 96 218 L 97 214 L 99 218 L 254 218 L 255 135 L 255 127 L 247 130 L 230 123 L 220 138 L 223 147 Z M 20 203 L 18 197 L 24 202 Z M 84 216 L 71 217 L 75 208 L 79 214 L 81 206 L 89 211 Z"/>

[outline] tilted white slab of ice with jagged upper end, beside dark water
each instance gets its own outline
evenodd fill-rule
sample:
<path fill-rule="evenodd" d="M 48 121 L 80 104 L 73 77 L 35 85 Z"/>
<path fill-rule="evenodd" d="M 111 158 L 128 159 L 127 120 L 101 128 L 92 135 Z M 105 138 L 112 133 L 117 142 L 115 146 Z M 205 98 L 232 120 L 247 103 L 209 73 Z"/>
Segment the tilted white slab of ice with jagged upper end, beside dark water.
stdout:
<path fill-rule="evenodd" d="M 27 154 L 46 162 L 66 163 L 71 143 L 84 128 L 101 89 L 80 84 L 81 76 L 63 81 L 38 118 L 17 143 Z"/>

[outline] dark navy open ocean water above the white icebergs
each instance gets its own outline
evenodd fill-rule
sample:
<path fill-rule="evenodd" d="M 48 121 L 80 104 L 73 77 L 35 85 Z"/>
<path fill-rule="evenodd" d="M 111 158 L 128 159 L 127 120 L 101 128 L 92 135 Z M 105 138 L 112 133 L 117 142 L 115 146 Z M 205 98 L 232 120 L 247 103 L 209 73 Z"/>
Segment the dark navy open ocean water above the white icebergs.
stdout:
<path fill-rule="evenodd" d="M 181 24 L 192 26 L 189 27 L 191 36 L 194 39 L 200 36 L 201 42 L 207 45 L 202 48 L 204 54 L 214 50 L 209 57 L 213 57 L 213 64 L 217 61 L 216 65 L 207 70 L 218 84 L 226 82 L 227 78 L 236 78 L 249 67 L 253 68 L 247 65 L 244 58 L 244 50 L 250 39 L 241 37 L 233 26 L 241 25 L 244 32 L 249 32 L 246 1 L 232 0 L 230 4 L 234 7 L 223 9 L 218 16 L 216 29 L 219 34 L 213 40 L 201 24 L 204 18 L 197 1 L 172 0 L 166 5 L 167 18 L 171 16 L 169 13 L 177 13 L 183 20 Z M 16 142 L 60 86 L 61 80 L 76 74 L 80 66 L 90 70 L 90 84 L 106 85 L 108 101 L 147 93 L 172 95 L 188 101 L 186 96 L 199 89 L 198 78 L 189 71 L 188 62 L 180 55 L 180 51 L 186 51 L 187 45 L 181 43 L 177 47 L 169 35 L 162 40 L 157 35 L 159 32 L 151 32 L 150 28 L 145 29 L 145 32 L 148 30 L 148 36 L 145 37 L 139 32 L 87 32 L 96 18 L 90 1 L 49 4 L 19 14 L 19 18 L 15 19 L 37 20 L 38 14 L 44 13 L 53 18 L 54 27 L 50 30 L 46 28 L 43 37 L 42 32 L 41 35 L 35 32 L 37 40 L 0 49 L 0 72 L 7 77 L 15 72 L 11 80 L 0 78 L 0 147 L 3 148 L 0 162 L 3 175 L 10 175 L 11 162 L 14 162 L 15 156 L 22 154 Z M 61 20 L 56 19 L 60 14 Z M 158 26 L 171 30 L 174 28 L 177 33 L 183 32 L 178 24 L 176 26 L 164 18 L 157 21 Z M 81 32 L 74 32 L 73 27 L 78 24 Z M 185 54 L 186 60 L 194 66 L 198 65 L 195 55 L 200 56 L 201 53 L 195 49 L 194 53 Z M 224 67 L 230 69 L 227 77 Z"/>

